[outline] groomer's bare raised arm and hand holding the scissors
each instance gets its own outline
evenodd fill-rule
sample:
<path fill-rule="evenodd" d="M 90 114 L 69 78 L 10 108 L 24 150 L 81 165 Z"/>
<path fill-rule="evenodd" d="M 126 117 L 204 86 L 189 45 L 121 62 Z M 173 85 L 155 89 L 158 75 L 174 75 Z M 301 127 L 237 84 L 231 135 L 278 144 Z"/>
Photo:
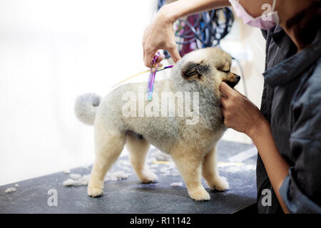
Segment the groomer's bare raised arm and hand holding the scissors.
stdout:
<path fill-rule="evenodd" d="M 145 65 L 151 67 L 153 56 L 158 49 L 167 50 L 175 63 L 180 59 L 173 30 L 173 24 L 177 19 L 229 5 L 228 0 L 179 0 L 163 6 L 144 31 L 143 58 Z M 164 56 L 160 56 L 157 62 L 162 61 L 163 58 Z"/>

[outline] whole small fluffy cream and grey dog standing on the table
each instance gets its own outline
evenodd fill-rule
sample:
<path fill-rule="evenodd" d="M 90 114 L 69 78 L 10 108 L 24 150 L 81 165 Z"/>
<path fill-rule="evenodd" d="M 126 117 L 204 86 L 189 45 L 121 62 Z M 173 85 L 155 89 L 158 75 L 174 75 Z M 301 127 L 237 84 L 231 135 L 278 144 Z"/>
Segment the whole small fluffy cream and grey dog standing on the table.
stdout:
<path fill-rule="evenodd" d="M 106 172 L 123 150 L 129 151 L 133 168 L 141 182 L 155 182 L 156 175 L 145 166 L 149 145 L 168 153 L 195 200 L 209 200 L 201 184 L 201 175 L 212 190 L 228 190 L 228 182 L 216 167 L 215 147 L 225 131 L 220 109 L 219 86 L 222 81 L 235 85 L 239 77 L 230 73 L 231 58 L 219 48 L 205 48 L 185 55 L 171 70 L 171 77 L 156 81 L 153 95 L 161 92 L 198 92 L 199 119 L 186 125 L 187 117 L 124 117 L 123 93 L 138 93 L 146 83 L 119 86 L 103 100 L 93 93 L 77 98 L 76 116 L 94 125 L 96 160 L 88 184 L 88 195 L 103 194 Z M 145 106 L 151 102 L 145 100 Z"/>

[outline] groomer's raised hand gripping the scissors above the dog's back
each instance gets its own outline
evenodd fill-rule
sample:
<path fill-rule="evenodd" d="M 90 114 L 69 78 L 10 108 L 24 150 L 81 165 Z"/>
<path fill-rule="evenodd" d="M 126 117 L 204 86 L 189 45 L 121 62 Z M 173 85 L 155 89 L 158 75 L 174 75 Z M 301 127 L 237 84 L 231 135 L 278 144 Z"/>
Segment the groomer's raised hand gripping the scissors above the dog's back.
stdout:
<path fill-rule="evenodd" d="M 167 50 L 173 61 L 176 63 L 180 59 L 177 46 L 175 43 L 175 33 L 173 29 L 174 19 L 171 19 L 168 14 L 168 8 L 163 6 L 151 24 L 145 29 L 143 35 L 143 58 L 145 66 L 151 67 L 153 56 L 158 49 Z M 159 63 L 165 58 L 161 55 L 156 62 Z"/>

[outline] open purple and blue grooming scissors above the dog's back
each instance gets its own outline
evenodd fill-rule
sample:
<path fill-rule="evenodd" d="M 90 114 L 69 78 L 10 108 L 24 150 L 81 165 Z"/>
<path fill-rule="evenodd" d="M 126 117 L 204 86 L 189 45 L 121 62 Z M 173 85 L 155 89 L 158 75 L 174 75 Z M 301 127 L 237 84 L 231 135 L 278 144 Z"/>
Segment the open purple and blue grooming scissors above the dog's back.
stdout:
<path fill-rule="evenodd" d="M 150 72 L 149 74 L 149 78 L 148 78 L 148 86 L 147 86 L 147 100 L 152 100 L 152 96 L 153 96 L 153 86 L 154 86 L 154 81 L 155 81 L 155 77 L 156 77 L 156 72 L 158 71 L 163 71 L 167 68 L 172 68 L 174 65 L 169 65 L 169 66 L 161 66 L 158 67 L 158 63 L 156 63 L 157 58 L 160 56 L 161 54 L 159 53 L 159 51 L 157 51 L 156 56 L 154 56 L 153 58 L 153 65 L 151 67 L 151 70 L 146 70 L 146 71 L 141 71 L 139 73 L 134 74 L 133 76 L 129 76 L 128 78 L 124 79 L 123 81 L 120 81 L 119 83 L 117 83 L 116 85 L 112 86 L 111 88 L 114 88 L 116 86 L 121 85 L 122 83 L 128 81 L 131 78 L 135 78 L 136 76 L 140 76 L 143 73 L 147 73 Z"/>

